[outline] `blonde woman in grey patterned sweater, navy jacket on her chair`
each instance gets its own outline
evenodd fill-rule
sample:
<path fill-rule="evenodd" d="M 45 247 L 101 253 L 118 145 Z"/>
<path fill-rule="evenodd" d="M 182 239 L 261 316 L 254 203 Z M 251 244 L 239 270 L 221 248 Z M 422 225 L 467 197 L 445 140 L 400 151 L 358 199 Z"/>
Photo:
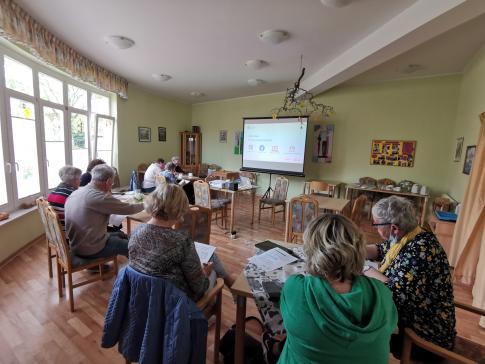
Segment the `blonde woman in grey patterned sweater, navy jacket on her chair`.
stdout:
<path fill-rule="evenodd" d="M 232 285 L 233 280 L 216 254 L 202 267 L 193 241 L 173 229 L 188 208 L 182 188 L 168 183 L 157 186 L 145 198 L 145 211 L 152 218 L 139 225 L 130 237 L 129 265 L 141 273 L 170 280 L 197 301 L 212 288 L 216 276 L 224 278 L 227 285 Z"/>

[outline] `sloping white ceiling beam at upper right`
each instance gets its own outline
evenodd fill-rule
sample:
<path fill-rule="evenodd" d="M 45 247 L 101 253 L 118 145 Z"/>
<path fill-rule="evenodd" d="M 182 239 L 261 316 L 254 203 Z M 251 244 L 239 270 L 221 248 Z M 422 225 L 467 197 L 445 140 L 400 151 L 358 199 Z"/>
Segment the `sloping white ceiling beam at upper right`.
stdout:
<path fill-rule="evenodd" d="M 483 0 L 418 0 L 303 80 L 302 87 L 326 91 L 483 13 Z"/>

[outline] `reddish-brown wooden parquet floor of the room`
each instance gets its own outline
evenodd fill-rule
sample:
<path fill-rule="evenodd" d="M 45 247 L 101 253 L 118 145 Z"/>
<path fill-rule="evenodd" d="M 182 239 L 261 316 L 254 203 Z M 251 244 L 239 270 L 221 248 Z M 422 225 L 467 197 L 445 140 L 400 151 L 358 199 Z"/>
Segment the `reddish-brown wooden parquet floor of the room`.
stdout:
<path fill-rule="evenodd" d="M 211 241 L 227 271 L 237 276 L 247 258 L 254 254 L 254 243 L 272 238 L 283 240 L 285 226 L 282 214 L 271 225 L 269 211 L 261 223 L 250 224 L 250 200 L 237 207 L 237 239 L 212 225 Z M 378 236 L 364 226 L 369 241 Z M 0 267 L 0 363 L 124 363 L 116 348 L 101 349 L 100 338 L 113 279 L 74 290 L 76 312 L 69 311 L 66 298 L 59 300 L 56 278 L 47 274 L 45 240 L 40 238 L 14 259 Z M 121 266 L 126 264 L 120 258 Z M 235 322 L 232 295 L 224 290 L 224 333 Z M 471 302 L 470 290 L 455 287 L 455 295 Z M 254 302 L 248 300 L 248 315 L 258 315 Z M 485 345 L 485 330 L 476 316 L 457 311 L 457 330 L 463 336 Z M 248 331 L 257 335 L 257 329 Z M 213 326 L 209 331 L 207 362 L 212 363 Z M 391 360 L 391 362 L 397 362 Z"/>

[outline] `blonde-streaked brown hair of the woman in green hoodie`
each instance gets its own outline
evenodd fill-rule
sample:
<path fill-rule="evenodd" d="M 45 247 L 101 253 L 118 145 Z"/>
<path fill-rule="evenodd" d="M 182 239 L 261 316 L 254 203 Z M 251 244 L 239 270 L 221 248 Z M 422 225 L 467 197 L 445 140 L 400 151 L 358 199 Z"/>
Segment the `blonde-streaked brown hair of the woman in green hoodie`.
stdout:
<path fill-rule="evenodd" d="M 364 234 L 352 220 L 335 214 L 313 219 L 303 234 L 307 270 L 326 280 L 350 280 L 365 262 Z"/>

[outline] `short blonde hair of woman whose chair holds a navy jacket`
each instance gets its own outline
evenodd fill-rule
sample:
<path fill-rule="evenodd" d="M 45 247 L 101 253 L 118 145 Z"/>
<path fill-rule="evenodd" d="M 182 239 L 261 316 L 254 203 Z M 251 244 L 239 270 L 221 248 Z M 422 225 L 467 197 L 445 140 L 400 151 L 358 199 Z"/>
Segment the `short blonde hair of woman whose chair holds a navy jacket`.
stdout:
<path fill-rule="evenodd" d="M 175 184 L 162 183 L 144 201 L 145 211 L 160 220 L 177 220 L 189 209 L 184 190 Z"/>

